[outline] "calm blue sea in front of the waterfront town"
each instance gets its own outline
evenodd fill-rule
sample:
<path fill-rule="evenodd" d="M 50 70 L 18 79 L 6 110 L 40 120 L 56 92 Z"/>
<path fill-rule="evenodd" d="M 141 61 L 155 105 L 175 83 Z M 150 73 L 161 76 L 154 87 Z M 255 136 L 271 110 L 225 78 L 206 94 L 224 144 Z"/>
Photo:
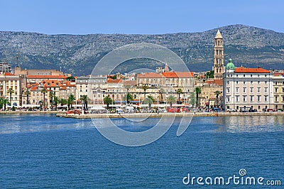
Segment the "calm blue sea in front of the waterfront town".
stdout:
<path fill-rule="evenodd" d="M 157 120 L 113 121 L 143 131 Z M 242 168 L 282 180 L 275 188 L 283 188 L 283 116 L 194 117 L 182 136 L 178 121 L 158 141 L 126 147 L 105 139 L 90 119 L 0 114 L 0 188 L 271 188 L 182 183 L 188 173 L 229 178 Z"/>

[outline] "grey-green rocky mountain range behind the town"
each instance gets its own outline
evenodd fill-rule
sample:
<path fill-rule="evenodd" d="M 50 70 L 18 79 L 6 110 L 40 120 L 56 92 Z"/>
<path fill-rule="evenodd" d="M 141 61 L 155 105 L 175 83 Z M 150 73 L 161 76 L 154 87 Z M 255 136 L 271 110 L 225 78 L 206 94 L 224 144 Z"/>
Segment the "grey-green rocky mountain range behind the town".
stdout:
<path fill-rule="evenodd" d="M 219 28 L 224 38 L 225 64 L 284 69 L 284 33 L 244 25 Z M 212 70 L 217 28 L 198 33 L 47 35 L 0 31 L 0 59 L 22 69 L 57 69 L 72 75 L 89 75 L 94 65 L 115 48 L 130 43 L 154 43 L 173 50 L 190 71 Z M 18 57 L 18 58 L 17 58 Z M 117 68 L 155 69 L 155 60 L 129 60 Z"/>

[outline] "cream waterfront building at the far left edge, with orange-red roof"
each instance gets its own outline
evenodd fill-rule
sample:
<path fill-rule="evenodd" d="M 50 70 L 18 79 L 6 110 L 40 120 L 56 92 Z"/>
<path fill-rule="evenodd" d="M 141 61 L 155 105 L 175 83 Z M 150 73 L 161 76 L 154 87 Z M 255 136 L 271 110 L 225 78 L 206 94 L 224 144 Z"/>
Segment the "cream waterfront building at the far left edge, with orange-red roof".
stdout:
<path fill-rule="evenodd" d="M 0 74 L 0 97 L 9 99 L 9 103 L 11 100 L 11 106 L 18 107 L 22 104 L 22 80 L 23 77 L 20 75 L 13 75 L 11 72 Z M 11 99 L 9 89 L 13 91 L 11 93 Z"/>

